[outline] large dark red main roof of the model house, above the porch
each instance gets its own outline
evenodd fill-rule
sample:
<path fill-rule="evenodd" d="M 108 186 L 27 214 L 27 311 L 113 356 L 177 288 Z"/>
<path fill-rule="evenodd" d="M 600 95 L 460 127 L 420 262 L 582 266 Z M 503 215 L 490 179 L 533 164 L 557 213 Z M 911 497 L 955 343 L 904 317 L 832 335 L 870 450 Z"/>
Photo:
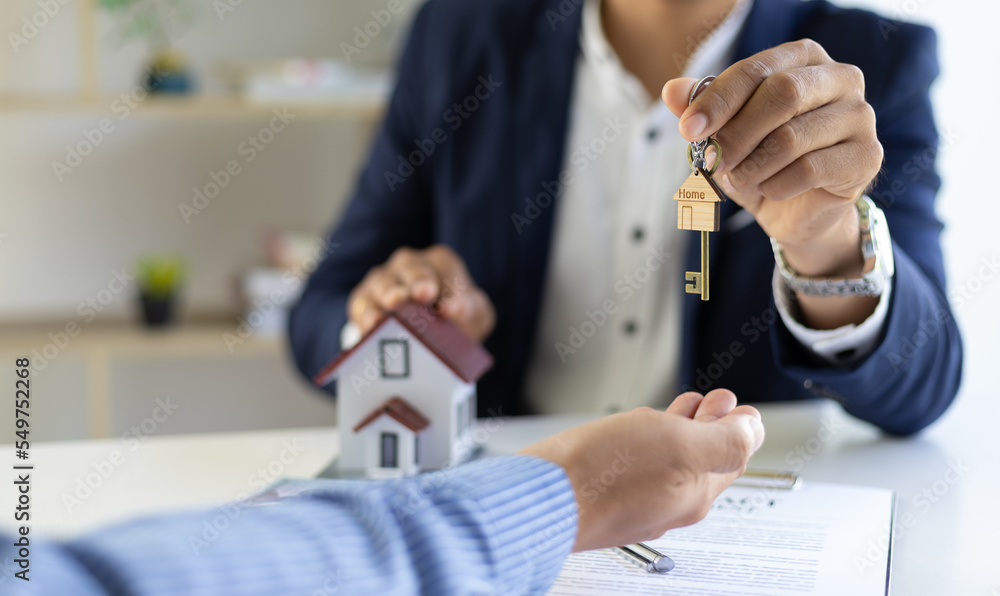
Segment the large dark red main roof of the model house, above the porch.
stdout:
<path fill-rule="evenodd" d="M 415 302 L 404 302 L 372 327 L 350 350 L 341 352 L 328 364 L 313 382 L 323 387 L 333 380 L 341 363 L 347 360 L 359 346 L 368 341 L 390 318 L 399 321 L 413 337 L 427 346 L 435 356 L 466 383 L 475 383 L 493 366 L 493 358 L 478 342 L 462 333 L 451 321 L 441 318 L 429 306 Z"/>

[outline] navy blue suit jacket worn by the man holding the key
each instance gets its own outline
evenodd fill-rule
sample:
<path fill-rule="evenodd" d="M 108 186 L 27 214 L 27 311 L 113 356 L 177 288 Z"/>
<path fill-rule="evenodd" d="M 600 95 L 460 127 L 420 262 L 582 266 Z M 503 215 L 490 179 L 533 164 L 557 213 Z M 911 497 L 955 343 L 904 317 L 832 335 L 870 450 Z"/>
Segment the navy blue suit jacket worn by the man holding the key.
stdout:
<path fill-rule="evenodd" d="M 465 259 L 497 309 L 485 342 L 496 366 L 479 384 L 480 415 L 529 412 L 525 373 L 559 201 L 535 210 L 527 200 L 547 204 L 559 179 L 581 4 L 430 0 L 421 9 L 385 121 L 330 239 L 335 247 L 292 313 L 293 352 L 310 378 L 340 351 L 347 295 L 365 273 L 398 247 L 441 242 Z M 725 232 L 739 209 L 729 201 L 724 231 L 712 235 L 712 299 L 684 295 L 677 391 L 726 387 L 751 402 L 829 397 L 888 432 L 916 432 L 954 398 L 962 361 L 934 215 L 935 36 L 824 1 L 756 0 L 736 59 L 807 37 L 864 71 L 877 115 L 885 163 L 870 195 L 886 211 L 896 260 L 884 332 L 851 367 L 816 362 L 777 316 L 763 231 Z M 688 236 L 686 269 L 697 270 L 698 235 Z"/>

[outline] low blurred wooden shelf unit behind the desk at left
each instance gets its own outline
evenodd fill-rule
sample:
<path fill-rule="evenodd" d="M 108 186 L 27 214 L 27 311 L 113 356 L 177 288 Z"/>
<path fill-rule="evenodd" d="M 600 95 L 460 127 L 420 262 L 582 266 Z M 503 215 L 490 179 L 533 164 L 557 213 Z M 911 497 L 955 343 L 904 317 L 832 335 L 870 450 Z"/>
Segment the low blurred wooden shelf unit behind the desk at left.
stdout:
<path fill-rule="evenodd" d="M 237 320 L 162 331 L 95 322 L 72 337 L 67 331 L 65 323 L 0 326 L 0 361 L 31 360 L 35 441 L 336 422 L 332 400 L 295 369 L 285 338 L 248 333 Z M 12 367 L 0 367 L 0 381 L 14 386 Z M 0 432 L 13 436 L 12 417 Z"/>

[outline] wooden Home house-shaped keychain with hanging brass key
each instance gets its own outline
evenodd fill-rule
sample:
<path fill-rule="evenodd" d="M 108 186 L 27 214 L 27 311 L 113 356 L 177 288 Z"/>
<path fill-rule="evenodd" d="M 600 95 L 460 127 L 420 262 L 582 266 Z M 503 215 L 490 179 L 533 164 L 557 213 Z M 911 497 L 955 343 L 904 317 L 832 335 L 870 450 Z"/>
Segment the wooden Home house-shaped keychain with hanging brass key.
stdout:
<path fill-rule="evenodd" d="M 713 80 L 715 77 L 708 76 L 698 81 L 691 90 L 688 105 Z M 709 147 L 715 149 L 711 169 L 705 161 L 705 151 Z M 722 148 L 715 139 L 706 138 L 688 145 L 687 153 L 691 175 L 674 194 L 677 201 L 677 229 L 701 232 L 701 271 L 684 272 L 684 280 L 691 282 L 684 286 L 684 291 L 688 294 L 701 294 L 702 300 L 708 300 L 708 233 L 719 231 L 720 203 L 726 200 L 726 194 L 712 180 L 722 159 Z"/>

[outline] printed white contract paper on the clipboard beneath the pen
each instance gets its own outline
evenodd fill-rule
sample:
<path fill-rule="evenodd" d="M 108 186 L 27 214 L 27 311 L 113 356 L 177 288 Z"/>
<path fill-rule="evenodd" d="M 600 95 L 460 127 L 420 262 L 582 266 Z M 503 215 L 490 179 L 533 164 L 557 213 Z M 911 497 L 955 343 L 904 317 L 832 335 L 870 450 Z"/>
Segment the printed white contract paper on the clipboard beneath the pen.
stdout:
<path fill-rule="evenodd" d="M 893 493 L 880 488 L 732 486 L 704 520 L 646 543 L 673 571 L 649 573 L 610 549 L 577 553 L 549 594 L 884 596 L 892 512 Z"/>

